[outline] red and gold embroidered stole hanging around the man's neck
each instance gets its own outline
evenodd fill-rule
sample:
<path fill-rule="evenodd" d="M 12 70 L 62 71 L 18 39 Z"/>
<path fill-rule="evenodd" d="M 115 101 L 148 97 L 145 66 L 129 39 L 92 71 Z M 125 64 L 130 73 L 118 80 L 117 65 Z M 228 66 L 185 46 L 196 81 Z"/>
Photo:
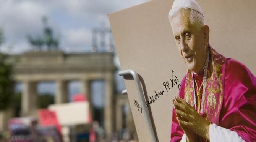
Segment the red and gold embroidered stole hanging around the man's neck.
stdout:
<path fill-rule="evenodd" d="M 206 96 L 204 98 L 203 113 L 200 115 L 206 118 L 210 123 L 215 123 L 218 125 L 218 118 L 224 95 L 226 58 L 217 53 L 212 47 L 210 47 L 209 49 L 210 60 L 207 69 Z M 196 84 L 194 84 L 192 73 L 190 70 L 188 70 L 185 79 L 185 101 L 191 106 L 194 102 L 195 107 L 197 107 L 196 110 L 200 112 L 200 97 L 202 94 L 202 90 L 198 90 L 199 92 L 196 92 L 196 95 L 198 95 L 196 102 L 196 96 L 194 95 L 194 86 L 196 86 Z"/>

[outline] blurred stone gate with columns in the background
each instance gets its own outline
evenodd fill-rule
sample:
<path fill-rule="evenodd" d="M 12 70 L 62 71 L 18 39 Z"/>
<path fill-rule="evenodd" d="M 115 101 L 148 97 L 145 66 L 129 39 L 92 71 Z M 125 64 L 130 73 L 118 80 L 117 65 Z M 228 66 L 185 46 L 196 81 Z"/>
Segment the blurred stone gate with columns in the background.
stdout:
<path fill-rule="evenodd" d="M 68 103 L 68 82 L 76 80 L 81 82 L 81 93 L 90 103 L 92 120 L 104 128 L 106 137 L 124 129 L 136 131 L 128 97 L 116 91 L 113 45 L 106 47 L 104 41 L 97 41 L 97 33 L 102 39 L 105 36 L 104 31 L 93 30 L 91 53 L 68 54 L 49 48 L 8 57 L 8 62 L 14 65 L 13 79 L 23 86 L 20 116 L 38 117 L 36 88 L 39 82 L 55 82 L 55 104 L 61 104 Z M 103 101 L 101 105 L 97 103 L 99 99 Z M 8 112 L 10 114 L 11 110 Z M 6 122 L 10 117 L 0 117 L 0 122 Z M 1 130 L 6 128 L 2 125 Z"/>

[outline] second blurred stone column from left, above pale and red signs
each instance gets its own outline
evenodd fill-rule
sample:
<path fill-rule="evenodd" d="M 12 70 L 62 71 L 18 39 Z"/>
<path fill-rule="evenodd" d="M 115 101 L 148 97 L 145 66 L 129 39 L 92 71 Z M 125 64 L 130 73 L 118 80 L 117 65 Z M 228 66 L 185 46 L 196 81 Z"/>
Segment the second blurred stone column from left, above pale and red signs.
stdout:
<path fill-rule="evenodd" d="M 68 102 L 68 82 L 64 80 L 56 81 L 55 104 Z"/>

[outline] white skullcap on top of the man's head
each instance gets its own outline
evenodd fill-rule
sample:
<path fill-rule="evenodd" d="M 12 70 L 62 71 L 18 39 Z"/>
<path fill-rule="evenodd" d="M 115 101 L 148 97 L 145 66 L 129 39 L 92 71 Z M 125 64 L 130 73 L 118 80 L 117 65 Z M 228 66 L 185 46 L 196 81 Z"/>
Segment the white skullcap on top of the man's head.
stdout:
<path fill-rule="evenodd" d="M 172 9 L 175 7 L 187 7 L 195 11 L 198 11 L 204 16 L 201 7 L 198 5 L 198 3 L 195 0 L 175 0 L 172 4 Z"/>

